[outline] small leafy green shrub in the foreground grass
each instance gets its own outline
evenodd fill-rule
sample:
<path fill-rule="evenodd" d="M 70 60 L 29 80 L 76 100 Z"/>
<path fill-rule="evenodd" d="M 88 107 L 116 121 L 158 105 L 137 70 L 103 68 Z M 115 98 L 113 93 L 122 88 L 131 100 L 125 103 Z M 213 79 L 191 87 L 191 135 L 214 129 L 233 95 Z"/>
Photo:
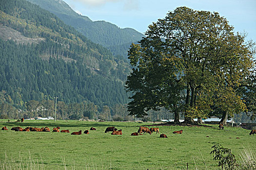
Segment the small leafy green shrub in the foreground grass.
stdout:
<path fill-rule="evenodd" d="M 214 160 L 219 160 L 218 166 L 223 170 L 235 170 L 236 158 L 230 149 L 223 148 L 220 144 L 214 143 L 213 151 L 210 154 L 214 154 Z"/>

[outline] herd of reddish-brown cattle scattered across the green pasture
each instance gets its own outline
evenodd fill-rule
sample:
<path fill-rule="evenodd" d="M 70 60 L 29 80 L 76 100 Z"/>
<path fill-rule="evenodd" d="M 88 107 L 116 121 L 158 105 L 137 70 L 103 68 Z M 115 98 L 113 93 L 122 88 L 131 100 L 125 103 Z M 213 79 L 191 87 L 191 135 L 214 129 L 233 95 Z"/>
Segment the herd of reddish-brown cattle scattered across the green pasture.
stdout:
<path fill-rule="evenodd" d="M 223 125 L 220 124 L 219 126 L 219 129 L 224 129 Z M 53 128 L 53 131 L 52 132 L 62 132 L 62 133 L 69 133 L 69 130 L 61 130 L 59 131 L 60 127 L 56 127 L 56 128 Z M 2 130 L 8 130 L 6 126 L 2 127 Z M 50 132 L 50 128 L 48 127 L 42 127 L 42 128 L 37 128 L 37 127 L 26 127 L 25 129 L 21 128 L 21 127 L 13 127 L 11 130 L 13 131 L 35 131 L 35 132 Z M 96 130 L 96 128 L 94 127 L 91 127 L 90 130 Z M 122 135 L 122 130 L 121 129 L 117 129 L 115 128 L 114 126 L 113 127 L 107 127 L 106 130 L 105 130 L 105 133 L 109 133 L 109 132 L 112 132 L 111 135 Z M 159 134 L 159 128 L 148 128 L 148 127 L 143 127 L 143 126 L 140 126 L 139 129 L 138 129 L 138 132 L 134 132 L 131 134 L 131 136 L 138 136 L 138 135 L 144 135 L 145 133 L 147 134 L 152 134 L 153 132 L 156 132 L 157 134 Z M 173 134 L 182 134 L 183 130 L 180 130 L 180 131 L 174 131 Z M 89 134 L 89 131 L 88 130 L 85 130 L 83 132 L 84 134 Z M 142 134 L 143 133 L 143 134 Z M 71 135 L 81 135 L 82 134 L 82 131 L 80 130 L 79 132 L 72 132 Z M 249 135 L 254 135 L 256 134 L 256 130 L 252 130 L 250 132 Z M 165 137 L 167 138 L 167 136 L 165 134 L 161 134 L 159 137 Z"/>

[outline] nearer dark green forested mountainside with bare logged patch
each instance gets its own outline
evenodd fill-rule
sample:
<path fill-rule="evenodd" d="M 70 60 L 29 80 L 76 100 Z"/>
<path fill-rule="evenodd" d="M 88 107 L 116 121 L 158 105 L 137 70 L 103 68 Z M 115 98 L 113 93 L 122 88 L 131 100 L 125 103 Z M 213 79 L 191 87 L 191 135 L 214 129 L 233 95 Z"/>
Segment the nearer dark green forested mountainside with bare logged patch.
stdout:
<path fill-rule="evenodd" d="M 124 104 L 130 66 L 54 14 L 26 0 L 0 0 L 0 102 Z"/>

